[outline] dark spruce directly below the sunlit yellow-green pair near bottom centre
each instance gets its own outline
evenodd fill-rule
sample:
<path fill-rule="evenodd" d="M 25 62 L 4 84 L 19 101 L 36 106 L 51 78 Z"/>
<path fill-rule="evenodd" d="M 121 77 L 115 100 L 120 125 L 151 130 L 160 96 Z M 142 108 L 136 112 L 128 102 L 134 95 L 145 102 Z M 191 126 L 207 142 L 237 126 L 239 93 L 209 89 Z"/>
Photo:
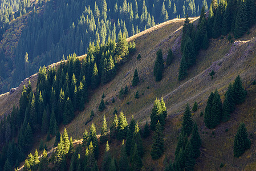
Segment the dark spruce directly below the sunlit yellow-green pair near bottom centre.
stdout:
<path fill-rule="evenodd" d="M 153 135 L 153 145 L 151 150 L 151 157 L 156 160 L 164 153 L 164 133 L 162 132 L 161 124 L 157 122 L 156 131 Z"/>

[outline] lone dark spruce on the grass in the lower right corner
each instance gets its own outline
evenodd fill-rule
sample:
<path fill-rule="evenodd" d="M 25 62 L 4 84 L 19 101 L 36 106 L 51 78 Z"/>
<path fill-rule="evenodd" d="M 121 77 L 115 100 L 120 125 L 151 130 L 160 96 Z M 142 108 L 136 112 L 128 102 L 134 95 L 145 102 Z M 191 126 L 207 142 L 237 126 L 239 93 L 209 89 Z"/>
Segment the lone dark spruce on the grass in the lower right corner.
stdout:
<path fill-rule="evenodd" d="M 249 149 L 251 146 L 251 141 L 248 139 L 247 129 L 245 124 L 242 123 L 239 125 L 237 134 L 235 135 L 234 140 L 234 157 L 241 156 L 246 149 Z"/>

